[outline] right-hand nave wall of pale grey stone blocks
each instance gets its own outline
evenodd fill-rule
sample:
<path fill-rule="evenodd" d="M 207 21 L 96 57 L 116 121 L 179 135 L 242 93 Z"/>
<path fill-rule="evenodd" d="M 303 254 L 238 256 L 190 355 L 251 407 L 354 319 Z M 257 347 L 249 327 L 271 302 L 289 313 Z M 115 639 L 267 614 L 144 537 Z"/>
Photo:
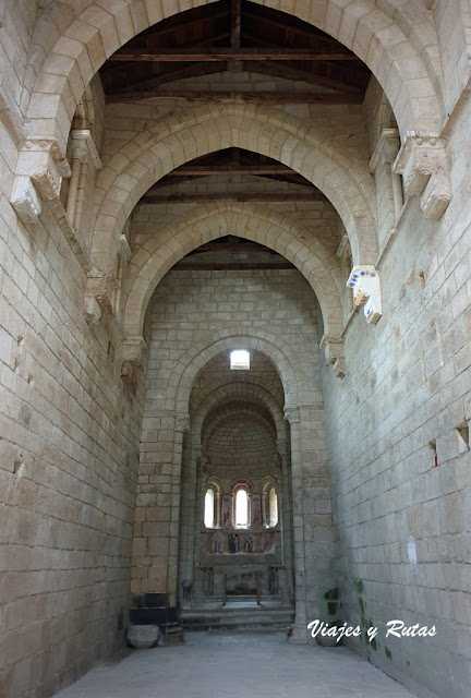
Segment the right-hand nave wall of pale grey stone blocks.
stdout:
<path fill-rule="evenodd" d="M 466 133 L 463 119 L 449 146 L 454 198 L 443 220 L 424 221 L 418 200 L 409 202 L 377 264 L 382 320 L 372 327 L 354 315 L 345 332 L 346 378 L 324 371 L 346 618 L 379 627 L 377 645 L 363 639 L 360 648 L 372 662 L 457 697 L 469 693 L 471 659 Z M 435 625 L 436 636 L 384 640 L 394 618 Z"/>

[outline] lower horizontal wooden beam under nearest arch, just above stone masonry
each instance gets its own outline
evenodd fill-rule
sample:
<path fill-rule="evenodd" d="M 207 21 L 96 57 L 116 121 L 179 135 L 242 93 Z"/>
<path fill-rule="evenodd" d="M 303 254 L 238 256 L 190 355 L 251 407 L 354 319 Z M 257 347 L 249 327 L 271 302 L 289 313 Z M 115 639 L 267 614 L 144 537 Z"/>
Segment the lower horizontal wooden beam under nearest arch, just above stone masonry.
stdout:
<path fill-rule="evenodd" d="M 299 79 L 298 79 L 299 80 Z M 159 80 L 161 84 L 162 80 Z M 168 79 L 166 82 L 169 82 Z M 280 105 L 361 105 L 360 93 L 311 92 L 227 92 L 213 89 L 137 89 L 107 94 L 107 103 L 140 101 L 141 99 L 181 99 L 183 101 L 217 101 L 227 104 L 280 104 Z"/>

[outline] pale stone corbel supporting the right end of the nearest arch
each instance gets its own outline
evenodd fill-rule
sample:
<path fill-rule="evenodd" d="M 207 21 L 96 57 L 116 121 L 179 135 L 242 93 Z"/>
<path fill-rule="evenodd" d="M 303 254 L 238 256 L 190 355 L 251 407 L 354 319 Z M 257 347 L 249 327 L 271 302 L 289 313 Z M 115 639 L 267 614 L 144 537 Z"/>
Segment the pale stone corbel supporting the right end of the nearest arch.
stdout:
<path fill-rule="evenodd" d="M 402 174 L 406 196 L 420 196 L 430 220 L 442 218 L 451 197 L 446 143 L 445 139 L 408 135 L 392 167 L 396 174 Z"/>

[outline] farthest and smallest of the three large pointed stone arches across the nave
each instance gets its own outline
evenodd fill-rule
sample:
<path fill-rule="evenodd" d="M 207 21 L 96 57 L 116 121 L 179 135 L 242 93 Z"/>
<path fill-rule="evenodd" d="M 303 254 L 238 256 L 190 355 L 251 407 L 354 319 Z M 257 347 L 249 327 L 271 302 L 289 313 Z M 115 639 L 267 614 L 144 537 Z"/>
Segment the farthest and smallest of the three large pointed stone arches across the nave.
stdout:
<path fill-rule="evenodd" d="M 338 261 L 312 232 L 295 221 L 253 204 L 201 206 L 147 241 L 129 264 L 124 309 L 128 336 L 142 335 L 150 297 L 165 274 L 185 254 L 224 234 L 267 245 L 291 262 L 311 284 L 321 305 L 326 334 L 342 327 Z"/>

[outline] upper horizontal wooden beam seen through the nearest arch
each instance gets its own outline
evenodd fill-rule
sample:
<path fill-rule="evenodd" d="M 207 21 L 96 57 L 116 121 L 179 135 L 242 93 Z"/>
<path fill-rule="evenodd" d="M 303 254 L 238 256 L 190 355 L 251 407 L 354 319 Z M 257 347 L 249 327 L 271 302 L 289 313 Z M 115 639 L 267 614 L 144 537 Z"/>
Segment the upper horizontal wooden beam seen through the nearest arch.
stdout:
<path fill-rule="evenodd" d="M 197 49 L 165 49 L 159 52 L 144 50 L 117 51 L 108 58 L 109 61 L 146 61 L 146 62 L 188 62 L 188 61 L 359 61 L 354 53 L 321 53 L 313 49 L 286 48 L 213 48 L 201 51 Z"/>

